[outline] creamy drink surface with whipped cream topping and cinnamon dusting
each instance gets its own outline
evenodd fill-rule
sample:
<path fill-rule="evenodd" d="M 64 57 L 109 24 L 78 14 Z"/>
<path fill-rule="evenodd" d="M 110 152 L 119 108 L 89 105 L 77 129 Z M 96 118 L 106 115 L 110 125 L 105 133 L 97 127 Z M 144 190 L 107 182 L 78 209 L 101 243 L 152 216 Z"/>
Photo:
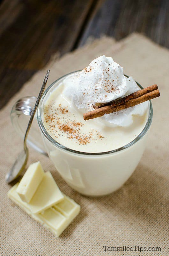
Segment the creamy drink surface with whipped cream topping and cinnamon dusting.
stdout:
<path fill-rule="evenodd" d="M 63 146 L 96 153 L 120 148 L 142 132 L 149 102 L 85 121 L 83 113 L 97 103 L 110 102 L 140 88 L 112 58 L 100 56 L 80 72 L 65 77 L 48 96 L 43 124 L 50 136 Z"/>

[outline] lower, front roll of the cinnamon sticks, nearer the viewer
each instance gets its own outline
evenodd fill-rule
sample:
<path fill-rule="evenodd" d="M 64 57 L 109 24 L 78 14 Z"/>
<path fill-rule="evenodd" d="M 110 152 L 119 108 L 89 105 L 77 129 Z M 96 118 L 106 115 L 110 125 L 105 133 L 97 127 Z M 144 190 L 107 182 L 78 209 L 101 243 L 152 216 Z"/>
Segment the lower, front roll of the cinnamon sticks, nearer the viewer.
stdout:
<path fill-rule="evenodd" d="M 147 88 L 145 88 L 145 89 L 147 89 Z M 140 90 L 140 91 L 142 91 L 142 90 Z M 139 91 L 137 91 L 137 92 L 139 92 Z M 140 97 L 137 97 L 137 98 L 134 98 L 134 99 L 132 98 L 131 100 L 128 100 L 128 101 L 126 101 L 126 102 L 124 102 L 120 105 L 117 105 L 117 106 L 112 107 L 111 103 L 110 103 L 107 106 L 97 108 L 93 111 L 85 113 L 83 115 L 84 120 L 93 119 L 93 118 L 96 118 L 96 117 L 99 117 L 99 116 L 104 116 L 105 114 L 110 114 L 110 113 L 113 113 L 113 112 L 116 112 L 116 111 L 119 111 L 119 110 L 122 110 L 122 109 L 125 109 L 125 108 L 130 108 L 130 107 L 136 106 L 140 103 L 143 103 L 144 101 L 152 100 L 152 99 L 154 99 L 156 97 L 159 97 L 159 96 L 160 96 L 160 93 L 157 89 L 155 91 L 145 93 L 144 95 L 142 95 Z"/>

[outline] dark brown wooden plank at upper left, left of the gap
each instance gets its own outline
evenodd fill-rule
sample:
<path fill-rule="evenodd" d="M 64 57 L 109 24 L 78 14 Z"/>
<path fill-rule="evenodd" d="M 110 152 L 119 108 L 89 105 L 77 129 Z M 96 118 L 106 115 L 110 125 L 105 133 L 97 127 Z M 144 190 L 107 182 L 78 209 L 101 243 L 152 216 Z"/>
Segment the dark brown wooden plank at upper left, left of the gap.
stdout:
<path fill-rule="evenodd" d="M 92 0 L 5 1 L 0 24 L 0 107 L 16 93 L 50 57 L 72 50 Z M 17 8 L 18 5 L 18 8 Z M 5 12 L 8 14 L 5 14 Z M 13 18 L 8 22 L 7 16 Z"/>

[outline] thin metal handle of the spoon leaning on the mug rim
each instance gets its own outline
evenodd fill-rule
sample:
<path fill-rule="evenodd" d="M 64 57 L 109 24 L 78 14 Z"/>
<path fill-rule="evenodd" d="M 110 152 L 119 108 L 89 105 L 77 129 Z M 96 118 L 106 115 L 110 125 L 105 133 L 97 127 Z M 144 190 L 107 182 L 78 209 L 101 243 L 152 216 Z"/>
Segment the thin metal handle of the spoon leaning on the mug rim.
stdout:
<path fill-rule="evenodd" d="M 46 86 L 47 81 L 48 81 L 49 72 L 50 72 L 50 70 L 48 69 L 48 71 L 47 71 L 47 73 L 46 73 L 46 76 L 45 76 L 45 78 L 44 78 L 42 87 L 41 87 L 41 89 L 40 89 L 40 93 L 39 93 L 38 98 L 37 98 L 37 100 L 36 100 L 36 103 L 35 103 L 35 105 L 34 105 L 34 108 L 33 108 L 32 114 L 31 114 L 31 117 L 30 117 L 30 119 L 29 119 L 29 123 L 28 123 L 27 129 L 26 129 L 26 133 L 25 133 L 25 137 L 24 137 L 24 149 L 25 149 L 25 150 L 27 150 L 27 146 L 26 146 L 27 136 L 28 136 L 28 133 L 29 133 L 29 130 L 30 130 L 32 121 L 33 121 L 33 117 L 34 117 L 34 115 L 35 115 L 35 113 L 36 113 L 36 110 L 37 110 L 37 107 L 38 107 L 38 105 L 39 105 L 40 99 L 41 99 L 41 97 L 42 97 L 42 95 L 43 95 L 43 92 L 44 92 L 44 90 L 45 90 L 45 86 Z"/>

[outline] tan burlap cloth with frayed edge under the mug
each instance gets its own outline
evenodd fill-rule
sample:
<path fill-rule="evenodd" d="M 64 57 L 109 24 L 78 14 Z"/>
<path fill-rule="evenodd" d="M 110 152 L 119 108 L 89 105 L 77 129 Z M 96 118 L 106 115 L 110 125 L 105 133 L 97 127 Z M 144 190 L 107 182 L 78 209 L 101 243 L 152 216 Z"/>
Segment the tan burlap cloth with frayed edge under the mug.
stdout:
<path fill-rule="evenodd" d="M 10 122 L 15 101 L 37 95 L 50 68 L 48 84 L 74 70 L 84 68 L 102 54 L 112 56 L 143 87 L 158 84 L 161 96 L 153 100 L 153 124 L 147 148 L 131 178 L 112 195 L 88 198 L 73 191 L 45 156 L 31 150 L 29 163 L 40 160 L 51 171 L 59 188 L 81 205 L 81 212 L 59 238 L 36 223 L 7 198 L 5 183 L 22 140 Z M 36 56 L 35 56 L 36 58 Z M 50 63 L 27 82 L 0 113 L 0 255 L 168 255 L 168 92 L 169 51 L 144 36 L 133 34 L 115 43 L 102 38 Z M 105 252 L 103 246 L 161 247 L 161 252 Z"/>

